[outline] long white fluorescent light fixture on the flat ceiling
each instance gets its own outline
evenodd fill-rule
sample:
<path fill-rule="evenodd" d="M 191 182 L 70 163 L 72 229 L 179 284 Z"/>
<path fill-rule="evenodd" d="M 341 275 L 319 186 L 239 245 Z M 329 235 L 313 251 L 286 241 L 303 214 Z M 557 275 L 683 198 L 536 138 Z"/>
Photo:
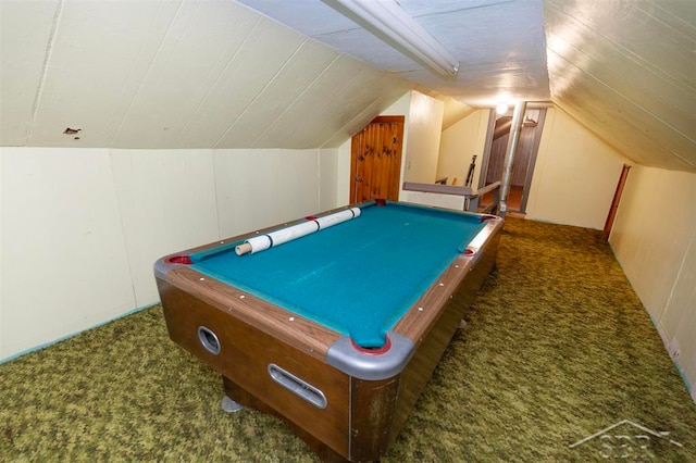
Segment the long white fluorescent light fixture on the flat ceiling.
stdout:
<path fill-rule="evenodd" d="M 459 72 L 459 61 L 393 0 L 323 0 L 391 47 L 443 76 Z"/>

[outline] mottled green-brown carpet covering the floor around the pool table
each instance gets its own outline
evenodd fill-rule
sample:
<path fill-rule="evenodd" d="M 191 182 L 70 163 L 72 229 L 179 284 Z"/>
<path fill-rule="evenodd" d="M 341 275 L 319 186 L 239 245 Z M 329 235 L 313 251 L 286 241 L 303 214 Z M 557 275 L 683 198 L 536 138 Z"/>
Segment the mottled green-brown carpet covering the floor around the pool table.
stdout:
<path fill-rule="evenodd" d="M 384 461 L 696 461 L 696 405 L 601 232 L 508 220 L 465 322 Z M 154 306 L 1 364 L 0 461 L 315 461 L 221 397 Z"/>

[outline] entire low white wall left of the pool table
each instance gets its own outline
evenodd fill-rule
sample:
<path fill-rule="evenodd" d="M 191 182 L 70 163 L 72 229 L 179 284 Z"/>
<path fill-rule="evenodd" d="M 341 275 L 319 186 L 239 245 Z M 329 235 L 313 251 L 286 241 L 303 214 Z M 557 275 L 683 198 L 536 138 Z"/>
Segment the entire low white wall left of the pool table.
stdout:
<path fill-rule="evenodd" d="M 166 253 L 319 208 L 318 150 L 1 148 L 0 360 L 158 301 Z"/>

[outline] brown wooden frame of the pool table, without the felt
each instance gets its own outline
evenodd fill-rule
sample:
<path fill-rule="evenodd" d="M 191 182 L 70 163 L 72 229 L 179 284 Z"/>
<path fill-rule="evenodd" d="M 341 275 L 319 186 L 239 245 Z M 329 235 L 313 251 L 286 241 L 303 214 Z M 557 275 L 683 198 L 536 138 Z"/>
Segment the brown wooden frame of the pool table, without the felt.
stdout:
<path fill-rule="evenodd" d="M 171 339 L 221 373 L 227 397 L 285 418 L 323 461 L 374 461 L 385 455 L 403 426 L 493 268 L 501 228 L 502 220 L 488 220 L 470 245 L 474 253 L 457 256 L 397 322 L 393 331 L 414 348 L 403 370 L 384 379 L 361 379 L 330 365 L 327 351 L 341 334 L 247 291 L 187 265 L 171 265 L 166 272 L 156 265 L 156 279 Z M 216 335 L 219 354 L 201 342 L 201 326 Z M 270 364 L 321 390 L 326 406 L 318 408 L 278 386 L 269 375 Z"/>

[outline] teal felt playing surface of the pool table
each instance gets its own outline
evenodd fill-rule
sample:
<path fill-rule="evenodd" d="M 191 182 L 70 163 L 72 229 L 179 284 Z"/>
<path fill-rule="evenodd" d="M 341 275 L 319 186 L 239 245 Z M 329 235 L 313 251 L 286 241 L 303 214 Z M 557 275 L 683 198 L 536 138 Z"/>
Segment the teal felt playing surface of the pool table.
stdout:
<path fill-rule="evenodd" d="M 483 228 L 478 215 L 403 203 L 253 254 L 227 245 L 191 255 L 197 271 L 382 347 L 386 333 Z"/>

